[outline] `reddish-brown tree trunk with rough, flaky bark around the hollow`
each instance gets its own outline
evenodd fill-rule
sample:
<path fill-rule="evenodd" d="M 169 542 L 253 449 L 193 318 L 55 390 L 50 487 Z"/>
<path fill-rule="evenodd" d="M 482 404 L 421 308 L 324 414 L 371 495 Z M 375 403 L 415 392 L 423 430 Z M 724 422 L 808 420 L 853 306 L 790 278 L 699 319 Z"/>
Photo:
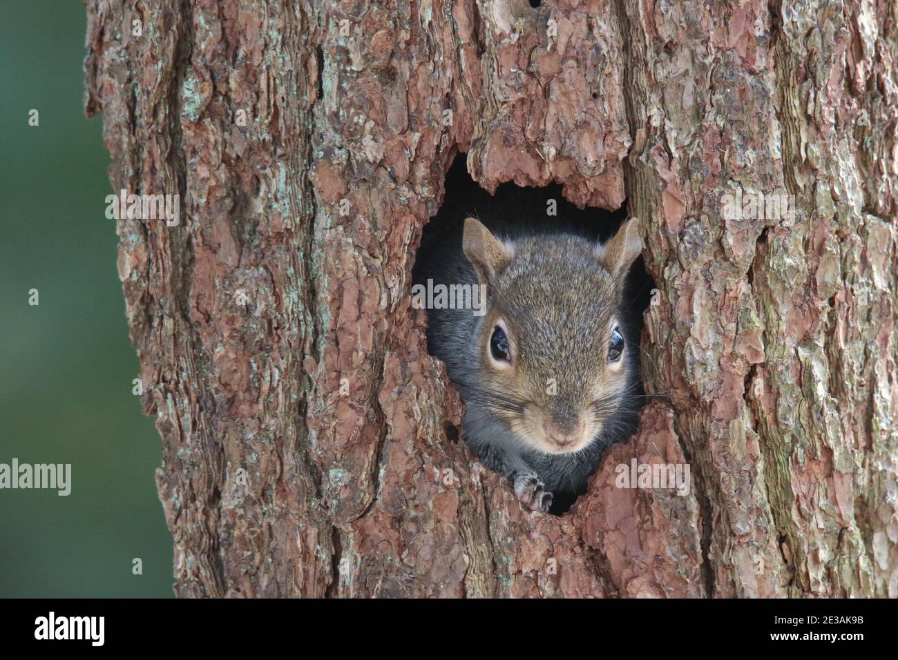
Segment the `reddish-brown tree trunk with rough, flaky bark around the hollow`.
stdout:
<path fill-rule="evenodd" d="M 117 221 L 176 594 L 898 596 L 893 3 L 87 12 L 113 189 L 180 195 Z M 458 441 L 410 305 L 460 151 L 641 219 L 664 396 L 563 516 Z M 616 488 L 634 458 L 691 494 Z"/>

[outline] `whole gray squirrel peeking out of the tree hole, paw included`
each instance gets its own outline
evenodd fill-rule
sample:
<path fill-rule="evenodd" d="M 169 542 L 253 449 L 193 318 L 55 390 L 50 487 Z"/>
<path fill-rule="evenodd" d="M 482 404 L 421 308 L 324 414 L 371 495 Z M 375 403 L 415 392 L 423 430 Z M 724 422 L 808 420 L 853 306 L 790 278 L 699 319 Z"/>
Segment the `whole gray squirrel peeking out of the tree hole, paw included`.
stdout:
<path fill-rule="evenodd" d="M 604 243 L 563 231 L 497 236 L 473 217 L 459 236 L 457 224 L 452 241 L 426 246 L 415 281 L 485 286 L 485 310 L 428 309 L 428 349 L 462 395 L 462 436 L 480 461 L 530 510 L 567 510 L 605 448 L 632 435 L 642 404 L 639 323 L 624 286 L 642 250 L 638 220 Z"/>

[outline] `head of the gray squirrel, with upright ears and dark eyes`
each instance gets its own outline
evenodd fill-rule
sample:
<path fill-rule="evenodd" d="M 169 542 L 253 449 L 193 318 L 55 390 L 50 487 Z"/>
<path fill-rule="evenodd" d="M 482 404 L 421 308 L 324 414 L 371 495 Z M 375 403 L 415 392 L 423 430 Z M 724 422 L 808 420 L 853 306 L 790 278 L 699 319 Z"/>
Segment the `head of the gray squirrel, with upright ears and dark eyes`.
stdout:
<path fill-rule="evenodd" d="M 635 218 L 604 244 L 569 235 L 503 241 L 465 220 L 462 250 L 487 287 L 471 398 L 533 450 L 585 449 L 634 398 L 638 340 L 621 303 L 641 249 Z"/>

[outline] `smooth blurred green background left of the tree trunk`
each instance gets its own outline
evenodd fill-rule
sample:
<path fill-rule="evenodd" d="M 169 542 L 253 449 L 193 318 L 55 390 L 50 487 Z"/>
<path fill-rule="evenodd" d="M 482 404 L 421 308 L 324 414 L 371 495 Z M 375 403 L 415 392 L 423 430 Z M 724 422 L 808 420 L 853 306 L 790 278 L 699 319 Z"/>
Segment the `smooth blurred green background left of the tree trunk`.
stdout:
<path fill-rule="evenodd" d="M 76 0 L 0 0 L 0 462 L 72 464 L 68 497 L 0 489 L 0 596 L 171 596 L 160 441 L 131 393 L 104 216 L 110 157 L 82 110 L 84 15 Z"/>

